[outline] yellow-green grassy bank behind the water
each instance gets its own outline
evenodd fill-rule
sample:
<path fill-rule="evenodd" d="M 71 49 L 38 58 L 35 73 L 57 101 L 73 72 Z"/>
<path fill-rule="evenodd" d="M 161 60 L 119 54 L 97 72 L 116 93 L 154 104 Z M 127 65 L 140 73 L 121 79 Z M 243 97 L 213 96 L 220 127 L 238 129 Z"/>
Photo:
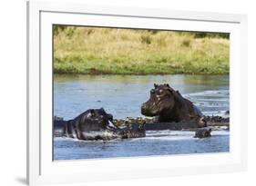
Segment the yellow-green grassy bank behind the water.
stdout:
<path fill-rule="evenodd" d="M 56 27 L 55 73 L 229 73 L 229 39 L 169 31 Z"/>

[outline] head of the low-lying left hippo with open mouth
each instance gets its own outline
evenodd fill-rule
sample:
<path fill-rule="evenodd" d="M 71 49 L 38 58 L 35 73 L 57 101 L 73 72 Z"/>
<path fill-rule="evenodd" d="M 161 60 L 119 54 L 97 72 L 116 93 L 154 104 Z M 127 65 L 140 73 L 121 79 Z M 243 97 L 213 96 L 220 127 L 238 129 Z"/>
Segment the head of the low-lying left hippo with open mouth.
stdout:
<path fill-rule="evenodd" d="M 114 129 L 117 128 L 113 124 L 113 115 L 106 113 L 103 108 L 90 109 L 85 115 L 84 123 L 86 130 L 102 130 L 102 129 Z"/>

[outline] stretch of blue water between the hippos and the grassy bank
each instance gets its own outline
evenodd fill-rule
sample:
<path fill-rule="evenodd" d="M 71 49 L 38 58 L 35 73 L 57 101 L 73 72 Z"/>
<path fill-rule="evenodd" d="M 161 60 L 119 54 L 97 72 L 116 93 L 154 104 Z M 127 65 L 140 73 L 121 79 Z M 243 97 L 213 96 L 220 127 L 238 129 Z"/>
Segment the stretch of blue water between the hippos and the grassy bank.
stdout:
<path fill-rule="evenodd" d="M 72 119 L 103 107 L 114 118 L 138 117 L 153 83 L 169 83 L 204 114 L 229 110 L 229 75 L 56 75 L 54 114 Z"/>

